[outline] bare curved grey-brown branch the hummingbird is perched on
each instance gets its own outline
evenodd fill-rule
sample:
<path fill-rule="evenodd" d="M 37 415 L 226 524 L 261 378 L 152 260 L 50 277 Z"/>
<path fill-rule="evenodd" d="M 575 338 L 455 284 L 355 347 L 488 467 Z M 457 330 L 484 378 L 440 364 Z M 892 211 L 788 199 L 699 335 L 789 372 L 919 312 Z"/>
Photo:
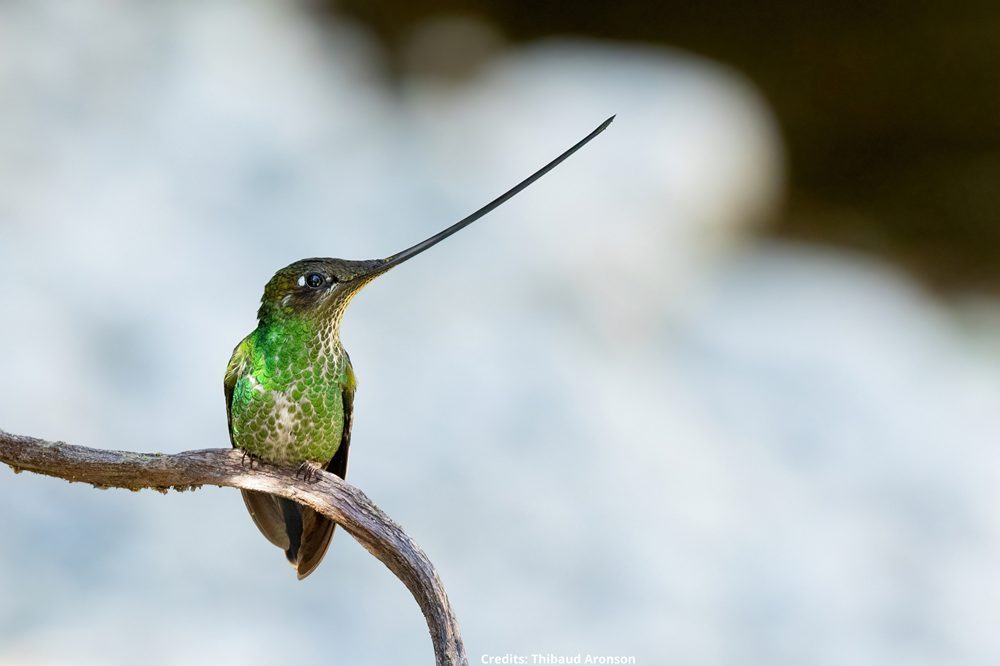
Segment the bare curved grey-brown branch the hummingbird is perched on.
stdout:
<path fill-rule="evenodd" d="M 319 480 L 307 482 L 297 478 L 294 468 L 264 465 L 251 470 L 242 458 L 236 449 L 171 455 L 107 451 L 0 430 L 0 462 L 18 473 L 27 470 L 100 488 L 160 492 L 227 486 L 287 497 L 315 509 L 347 530 L 410 590 L 427 620 L 438 666 L 468 664 L 458 621 L 434 566 L 364 493 L 327 472 L 322 472 Z"/>

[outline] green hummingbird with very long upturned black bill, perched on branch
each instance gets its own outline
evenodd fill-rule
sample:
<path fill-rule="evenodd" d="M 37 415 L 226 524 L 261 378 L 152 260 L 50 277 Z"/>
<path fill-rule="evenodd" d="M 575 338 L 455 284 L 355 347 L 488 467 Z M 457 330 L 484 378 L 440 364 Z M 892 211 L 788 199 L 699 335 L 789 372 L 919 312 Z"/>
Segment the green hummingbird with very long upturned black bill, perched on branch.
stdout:
<path fill-rule="evenodd" d="M 264 287 L 257 328 L 233 350 L 226 368 L 226 414 L 235 448 L 254 461 L 298 465 L 309 479 L 318 470 L 347 476 L 357 380 L 340 342 L 351 299 L 375 278 L 472 224 L 558 166 L 603 132 L 593 132 L 471 215 L 384 259 L 302 259 Z M 299 579 L 323 559 L 335 523 L 281 497 L 243 490 L 257 529 L 285 551 Z"/>

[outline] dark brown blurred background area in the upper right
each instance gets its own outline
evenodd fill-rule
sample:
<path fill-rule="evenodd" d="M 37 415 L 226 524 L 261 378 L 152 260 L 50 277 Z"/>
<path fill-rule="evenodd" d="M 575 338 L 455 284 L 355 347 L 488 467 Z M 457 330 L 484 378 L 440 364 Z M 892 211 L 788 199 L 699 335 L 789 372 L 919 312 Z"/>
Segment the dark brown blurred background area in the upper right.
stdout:
<path fill-rule="evenodd" d="M 789 200 L 769 232 L 888 256 L 938 287 L 1000 288 L 1000 4 L 329 5 L 372 29 L 397 67 L 422 23 L 456 14 L 514 42 L 581 35 L 677 47 L 728 64 L 760 87 L 786 141 Z M 468 48 L 472 62 L 490 50 L 483 41 Z M 455 56 L 448 62 L 465 60 Z"/>

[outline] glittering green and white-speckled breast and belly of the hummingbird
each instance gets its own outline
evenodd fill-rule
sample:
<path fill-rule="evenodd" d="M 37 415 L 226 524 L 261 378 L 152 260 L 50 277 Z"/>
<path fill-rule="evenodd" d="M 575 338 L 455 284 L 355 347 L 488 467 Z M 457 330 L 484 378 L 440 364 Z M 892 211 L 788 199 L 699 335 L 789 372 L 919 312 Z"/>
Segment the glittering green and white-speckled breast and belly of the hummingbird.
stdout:
<path fill-rule="evenodd" d="M 258 328 L 226 370 L 233 446 L 270 462 L 325 466 L 344 434 L 354 373 L 342 350 L 326 351 L 309 322 Z"/>

